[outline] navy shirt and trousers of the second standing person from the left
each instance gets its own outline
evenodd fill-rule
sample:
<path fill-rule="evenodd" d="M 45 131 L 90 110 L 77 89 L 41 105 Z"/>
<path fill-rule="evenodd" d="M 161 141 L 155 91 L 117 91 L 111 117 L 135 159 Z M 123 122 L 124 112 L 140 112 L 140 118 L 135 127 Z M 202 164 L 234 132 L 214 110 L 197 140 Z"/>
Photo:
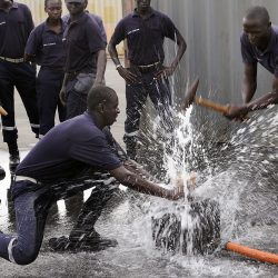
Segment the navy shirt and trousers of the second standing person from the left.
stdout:
<path fill-rule="evenodd" d="M 40 138 L 54 126 L 54 115 L 58 108 L 59 120 L 66 118 L 59 93 L 63 81 L 66 54 L 62 36 L 66 23 L 61 20 L 61 31 L 54 32 L 49 28 L 48 20 L 39 24 L 29 36 L 26 53 L 36 58 L 40 66 L 37 78 L 38 108 L 40 116 Z"/>

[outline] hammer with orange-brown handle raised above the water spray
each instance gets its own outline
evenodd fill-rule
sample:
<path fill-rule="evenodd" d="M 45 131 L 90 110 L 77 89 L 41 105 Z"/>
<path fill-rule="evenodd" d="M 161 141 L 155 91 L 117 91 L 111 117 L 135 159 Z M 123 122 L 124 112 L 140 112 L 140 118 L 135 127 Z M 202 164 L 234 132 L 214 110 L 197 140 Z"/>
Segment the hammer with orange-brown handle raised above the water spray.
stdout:
<path fill-rule="evenodd" d="M 195 102 L 199 106 L 207 107 L 209 109 L 212 109 L 217 112 L 221 112 L 224 115 L 228 112 L 229 106 L 222 106 L 220 103 L 212 102 L 208 99 L 196 97 L 198 85 L 199 85 L 199 79 L 197 78 L 191 85 L 191 87 L 188 89 L 188 91 L 186 92 L 183 109 L 187 109 L 192 102 Z"/>

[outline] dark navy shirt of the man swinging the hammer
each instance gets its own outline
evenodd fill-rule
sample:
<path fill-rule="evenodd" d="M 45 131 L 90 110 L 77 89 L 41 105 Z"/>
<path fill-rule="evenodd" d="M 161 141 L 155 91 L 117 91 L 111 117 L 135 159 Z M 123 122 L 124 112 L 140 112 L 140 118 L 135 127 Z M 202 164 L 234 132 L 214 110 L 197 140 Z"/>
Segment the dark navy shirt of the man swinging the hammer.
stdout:
<path fill-rule="evenodd" d="M 241 34 L 241 54 L 244 63 L 260 63 L 268 71 L 278 77 L 278 27 L 271 27 L 271 37 L 267 49 L 261 52 L 252 46 L 246 33 Z"/>

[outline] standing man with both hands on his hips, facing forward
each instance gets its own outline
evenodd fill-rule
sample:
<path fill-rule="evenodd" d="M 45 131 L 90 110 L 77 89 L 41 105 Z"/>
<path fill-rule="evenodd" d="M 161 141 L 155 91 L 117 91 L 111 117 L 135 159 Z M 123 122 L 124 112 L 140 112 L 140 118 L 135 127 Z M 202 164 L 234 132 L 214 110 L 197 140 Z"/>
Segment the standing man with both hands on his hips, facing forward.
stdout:
<path fill-rule="evenodd" d="M 149 96 L 160 118 L 172 129 L 171 92 L 168 77 L 177 68 L 187 44 L 173 22 L 150 7 L 150 0 L 136 0 L 137 9 L 117 24 L 108 44 L 109 53 L 119 75 L 126 80 L 127 119 L 125 137 L 127 153 L 136 158 L 139 121 L 142 107 Z M 178 44 L 177 54 L 169 67 L 163 66 L 163 40 L 169 38 Z M 130 68 L 121 66 L 116 46 L 127 39 Z"/>

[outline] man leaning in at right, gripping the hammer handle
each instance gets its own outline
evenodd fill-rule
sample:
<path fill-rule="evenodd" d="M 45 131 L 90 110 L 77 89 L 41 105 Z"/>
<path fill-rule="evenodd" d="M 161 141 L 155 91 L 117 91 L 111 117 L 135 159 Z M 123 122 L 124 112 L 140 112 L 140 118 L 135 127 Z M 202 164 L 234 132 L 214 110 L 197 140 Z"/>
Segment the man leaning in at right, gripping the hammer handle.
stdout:
<path fill-rule="evenodd" d="M 244 105 L 230 107 L 226 115 L 230 119 L 242 118 L 249 111 L 278 103 L 278 27 L 271 24 L 267 9 L 261 6 L 249 8 L 242 23 L 240 42 L 245 63 Z M 257 90 L 258 63 L 274 75 L 272 90 L 252 100 Z"/>

